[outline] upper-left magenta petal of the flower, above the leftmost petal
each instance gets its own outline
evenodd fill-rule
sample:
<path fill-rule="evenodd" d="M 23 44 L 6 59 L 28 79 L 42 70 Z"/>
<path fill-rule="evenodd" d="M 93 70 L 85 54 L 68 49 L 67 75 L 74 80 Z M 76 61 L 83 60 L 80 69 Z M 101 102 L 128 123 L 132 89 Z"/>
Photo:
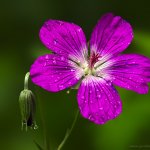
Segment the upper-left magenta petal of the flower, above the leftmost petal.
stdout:
<path fill-rule="evenodd" d="M 83 61 L 87 57 L 85 35 L 78 25 L 48 20 L 40 30 L 40 39 L 53 52 Z"/>

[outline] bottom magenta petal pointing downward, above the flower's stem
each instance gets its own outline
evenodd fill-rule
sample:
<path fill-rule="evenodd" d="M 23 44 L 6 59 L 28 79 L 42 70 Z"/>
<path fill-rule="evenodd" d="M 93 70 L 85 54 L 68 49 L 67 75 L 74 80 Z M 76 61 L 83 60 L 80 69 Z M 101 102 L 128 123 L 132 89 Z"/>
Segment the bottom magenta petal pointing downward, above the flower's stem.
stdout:
<path fill-rule="evenodd" d="M 78 105 L 83 117 L 96 124 L 104 124 L 116 118 L 122 111 L 122 103 L 111 82 L 87 76 L 78 90 Z"/>

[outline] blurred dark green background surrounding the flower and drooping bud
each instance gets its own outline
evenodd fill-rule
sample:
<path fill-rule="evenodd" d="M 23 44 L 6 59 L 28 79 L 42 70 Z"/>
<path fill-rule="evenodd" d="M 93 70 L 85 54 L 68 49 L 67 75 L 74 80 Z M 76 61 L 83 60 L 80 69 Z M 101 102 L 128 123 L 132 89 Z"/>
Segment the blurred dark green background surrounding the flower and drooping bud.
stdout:
<path fill-rule="evenodd" d="M 38 32 L 45 20 L 59 19 L 80 25 L 89 39 L 100 16 L 113 12 L 128 20 L 135 38 L 126 52 L 150 57 L 150 1 L 127 0 L 5 0 L 0 1 L 0 150 L 37 150 L 44 145 L 43 125 L 55 150 L 76 113 L 76 91 L 49 93 L 33 86 L 38 130 L 21 131 L 18 96 L 24 75 L 41 54 L 49 53 Z M 150 93 L 139 95 L 120 89 L 123 113 L 98 126 L 81 116 L 64 150 L 150 149 Z M 42 107 L 42 113 L 40 108 Z"/>

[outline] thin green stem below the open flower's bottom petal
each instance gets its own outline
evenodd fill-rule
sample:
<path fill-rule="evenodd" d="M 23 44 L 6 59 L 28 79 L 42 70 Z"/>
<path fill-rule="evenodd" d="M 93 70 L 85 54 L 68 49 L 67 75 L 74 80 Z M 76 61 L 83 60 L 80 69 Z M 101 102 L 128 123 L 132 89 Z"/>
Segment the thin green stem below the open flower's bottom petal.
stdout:
<path fill-rule="evenodd" d="M 62 140 L 62 142 L 60 143 L 60 145 L 58 146 L 57 150 L 61 150 L 62 147 L 64 146 L 64 144 L 66 143 L 67 139 L 69 138 L 69 136 L 70 136 L 70 134 L 71 134 L 71 132 L 72 132 L 72 130 L 73 130 L 75 124 L 76 124 L 78 115 L 79 115 L 79 110 L 77 110 L 77 113 L 76 113 L 76 115 L 75 115 L 75 118 L 74 118 L 74 120 L 73 120 L 73 123 L 72 123 L 72 125 L 71 125 L 71 128 L 67 130 L 67 132 L 66 132 L 66 134 L 65 134 L 65 137 L 64 137 L 64 139 Z"/>

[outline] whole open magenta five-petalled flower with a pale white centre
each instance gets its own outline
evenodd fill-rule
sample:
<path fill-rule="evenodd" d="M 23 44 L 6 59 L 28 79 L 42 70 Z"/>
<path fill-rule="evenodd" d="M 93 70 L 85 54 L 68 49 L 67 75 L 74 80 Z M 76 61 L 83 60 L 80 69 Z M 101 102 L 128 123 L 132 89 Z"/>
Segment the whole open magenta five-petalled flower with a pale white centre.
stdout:
<path fill-rule="evenodd" d="M 94 28 L 88 51 L 81 27 L 48 20 L 40 30 L 40 39 L 54 53 L 40 56 L 34 62 L 31 79 L 51 92 L 80 83 L 77 94 L 80 113 L 96 124 L 104 124 L 122 111 L 113 84 L 139 94 L 148 92 L 150 58 L 121 54 L 132 38 L 130 24 L 108 13 Z"/>

